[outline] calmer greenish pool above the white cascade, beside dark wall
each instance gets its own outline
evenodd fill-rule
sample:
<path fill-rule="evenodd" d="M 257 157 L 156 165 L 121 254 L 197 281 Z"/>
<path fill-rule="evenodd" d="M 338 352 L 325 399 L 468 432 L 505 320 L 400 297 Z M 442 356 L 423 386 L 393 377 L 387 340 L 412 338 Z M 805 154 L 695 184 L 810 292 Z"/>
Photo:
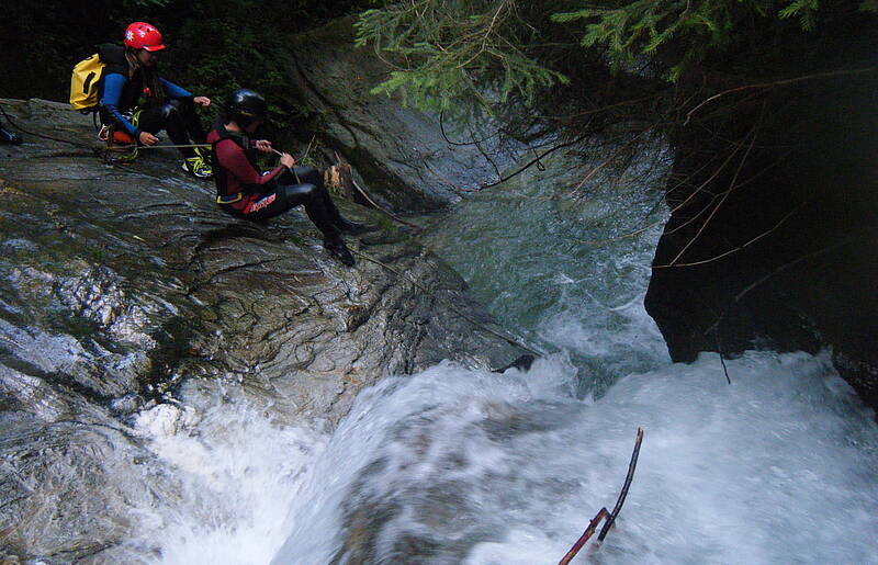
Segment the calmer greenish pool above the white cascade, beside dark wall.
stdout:
<path fill-rule="evenodd" d="M 596 172 L 600 155 L 559 151 L 544 170 L 463 200 L 423 238 L 504 325 L 570 354 L 583 394 L 666 361 L 642 307 L 667 216 L 666 150 L 651 150 L 639 166 Z"/>

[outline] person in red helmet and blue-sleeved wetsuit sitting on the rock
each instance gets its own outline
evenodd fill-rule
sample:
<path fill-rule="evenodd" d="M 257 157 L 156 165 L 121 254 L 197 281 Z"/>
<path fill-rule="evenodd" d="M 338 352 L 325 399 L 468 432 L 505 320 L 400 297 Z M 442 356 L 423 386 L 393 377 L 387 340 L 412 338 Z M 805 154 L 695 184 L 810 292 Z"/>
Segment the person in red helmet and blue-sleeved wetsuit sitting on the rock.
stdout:
<path fill-rule="evenodd" d="M 105 65 L 99 86 L 101 122 L 127 134 L 138 145 L 156 144 L 156 134 L 161 129 L 173 145 L 205 144 L 195 105 L 210 106 L 211 100 L 195 97 L 159 76 L 158 52 L 165 48 L 161 33 L 146 22 L 134 22 L 125 30 L 123 43 L 124 46 L 98 46 Z M 209 149 L 182 147 L 180 154 L 185 172 L 211 177 Z M 132 156 L 136 156 L 136 149 Z"/>

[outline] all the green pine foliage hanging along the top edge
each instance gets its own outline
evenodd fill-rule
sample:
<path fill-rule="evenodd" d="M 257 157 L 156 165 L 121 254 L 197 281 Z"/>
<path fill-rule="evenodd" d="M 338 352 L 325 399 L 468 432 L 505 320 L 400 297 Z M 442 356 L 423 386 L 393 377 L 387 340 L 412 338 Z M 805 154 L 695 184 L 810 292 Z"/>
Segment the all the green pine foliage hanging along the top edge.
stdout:
<path fill-rule="evenodd" d="M 854 5 L 878 11 L 878 0 Z M 616 71 L 651 61 L 676 82 L 707 58 L 733 54 L 756 29 L 776 23 L 809 34 L 832 10 L 825 0 L 403 0 L 362 13 L 357 45 L 394 66 L 373 92 L 425 110 L 491 112 L 510 100 L 530 105 L 569 82 L 570 69 L 542 56 L 549 43 L 555 56 L 603 54 Z"/>

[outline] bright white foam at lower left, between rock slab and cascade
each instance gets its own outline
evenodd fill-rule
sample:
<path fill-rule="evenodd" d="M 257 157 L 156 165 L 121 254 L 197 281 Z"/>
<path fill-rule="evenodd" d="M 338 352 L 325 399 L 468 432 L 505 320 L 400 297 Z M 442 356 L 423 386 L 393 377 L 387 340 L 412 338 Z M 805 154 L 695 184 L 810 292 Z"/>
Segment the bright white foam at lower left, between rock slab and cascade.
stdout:
<path fill-rule="evenodd" d="M 143 431 L 182 491 L 172 505 L 137 509 L 140 533 L 128 545 L 145 564 L 269 563 L 289 535 L 289 510 L 326 436 L 278 426 L 243 404 L 217 402 L 176 430 L 167 422 L 185 418 L 156 416 Z"/>

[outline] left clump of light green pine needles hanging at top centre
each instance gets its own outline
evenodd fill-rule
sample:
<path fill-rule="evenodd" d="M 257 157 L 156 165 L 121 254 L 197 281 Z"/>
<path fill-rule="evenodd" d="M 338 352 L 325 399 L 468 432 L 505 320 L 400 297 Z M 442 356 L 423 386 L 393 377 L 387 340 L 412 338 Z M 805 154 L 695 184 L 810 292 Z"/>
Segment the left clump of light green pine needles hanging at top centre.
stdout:
<path fill-rule="evenodd" d="M 464 113 L 497 103 L 532 103 L 567 78 L 529 49 L 542 41 L 515 0 L 405 0 L 369 10 L 357 45 L 372 44 L 395 70 L 373 93 L 394 92 L 420 109 Z M 461 101 L 471 103 L 461 104 Z"/>

